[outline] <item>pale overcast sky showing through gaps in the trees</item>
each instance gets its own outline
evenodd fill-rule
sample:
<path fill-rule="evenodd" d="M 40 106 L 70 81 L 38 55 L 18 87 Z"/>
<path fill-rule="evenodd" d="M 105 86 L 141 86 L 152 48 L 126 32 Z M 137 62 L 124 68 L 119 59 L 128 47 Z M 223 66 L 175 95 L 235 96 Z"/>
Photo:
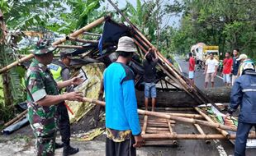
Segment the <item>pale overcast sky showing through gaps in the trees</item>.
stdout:
<path fill-rule="evenodd" d="M 127 0 L 128 2 L 130 2 L 131 4 L 133 4 L 134 6 L 136 6 L 136 0 Z M 126 0 L 113 0 L 112 2 L 118 2 L 118 7 L 122 8 L 126 6 Z M 143 2 L 143 1 L 142 1 Z M 173 0 L 164 0 L 164 4 L 167 3 L 173 3 Z M 107 7 L 110 10 L 114 10 L 113 7 L 111 7 L 111 4 L 109 2 L 104 2 L 103 5 L 105 7 Z M 181 16 L 164 16 L 164 21 L 163 21 L 163 26 L 168 24 L 168 25 L 173 25 L 175 27 L 179 26 L 179 21 L 181 19 Z"/>

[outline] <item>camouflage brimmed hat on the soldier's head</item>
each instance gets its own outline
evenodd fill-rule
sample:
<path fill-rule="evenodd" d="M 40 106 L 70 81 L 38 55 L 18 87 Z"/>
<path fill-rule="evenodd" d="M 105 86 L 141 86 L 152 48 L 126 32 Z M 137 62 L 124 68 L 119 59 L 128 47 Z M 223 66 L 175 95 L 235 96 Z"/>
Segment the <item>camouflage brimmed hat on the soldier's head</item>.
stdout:
<path fill-rule="evenodd" d="M 34 55 L 44 55 L 55 51 L 55 49 L 54 46 L 50 45 L 50 40 L 40 39 L 40 41 L 36 43 L 36 48 L 31 53 Z"/>

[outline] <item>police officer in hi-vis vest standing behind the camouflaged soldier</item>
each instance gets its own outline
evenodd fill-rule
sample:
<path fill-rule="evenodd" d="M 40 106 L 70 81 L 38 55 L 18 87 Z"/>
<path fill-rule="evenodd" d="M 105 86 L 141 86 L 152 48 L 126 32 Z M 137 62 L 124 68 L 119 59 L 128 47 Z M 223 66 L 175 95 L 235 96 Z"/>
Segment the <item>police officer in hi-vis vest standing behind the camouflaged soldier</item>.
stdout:
<path fill-rule="evenodd" d="M 69 65 L 71 62 L 71 57 L 69 53 L 61 52 L 60 59 L 52 62 L 48 67 L 50 68 L 50 72 L 53 74 L 53 77 L 56 82 L 62 82 L 70 79 L 70 71 Z M 64 91 L 71 92 L 73 91 L 72 86 L 67 86 L 64 89 L 59 90 L 60 94 L 64 93 Z M 55 148 L 59 149 L 64 147 L 63 155 L 71 155 L 78 153 L 78 148 L 73 148 L 70 146 L 70 122 L 69 122 L 69 113 L 66 108 L 65 102 L 59 103 L 57 111 L 59 112 L 59 132 L 61 135 L 61 140 L 63 144 L 59 145 L 56 143 Z"/>

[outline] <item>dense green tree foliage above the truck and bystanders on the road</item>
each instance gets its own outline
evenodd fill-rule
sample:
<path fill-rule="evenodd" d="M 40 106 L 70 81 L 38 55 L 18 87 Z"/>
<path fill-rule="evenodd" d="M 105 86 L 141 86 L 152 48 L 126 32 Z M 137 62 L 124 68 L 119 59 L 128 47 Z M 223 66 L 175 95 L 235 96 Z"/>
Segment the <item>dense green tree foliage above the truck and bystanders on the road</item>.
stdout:
<path fill-rule="evenodd" d="M 172 50 L 188 53 L 193 44 L 218 45 L 220 53 L 240 48 L 256 58 L 256 2 L 249 0 L 183 0 L 181 26 L 172 36 Z"/>

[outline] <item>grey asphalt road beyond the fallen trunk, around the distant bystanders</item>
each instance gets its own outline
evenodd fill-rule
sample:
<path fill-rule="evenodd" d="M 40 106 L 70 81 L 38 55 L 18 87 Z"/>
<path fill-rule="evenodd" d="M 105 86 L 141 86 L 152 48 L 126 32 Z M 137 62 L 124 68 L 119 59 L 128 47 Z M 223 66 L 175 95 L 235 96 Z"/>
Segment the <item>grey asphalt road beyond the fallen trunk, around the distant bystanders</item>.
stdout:
<path fill-rule="evenodd" d="M 188 62 L 185 62 L 185 60 L 181 59 L 180 57 L 174 57 L 174 59 L 178 62 L 179 68 L 182 71 L 183 75 L 188 77 Z M 203 74 L 203 71 L 195 72 L 195 84 L 199 89 L 204 88 L 205 76 L 206 75 Z M 220 76 L 220 73 L 218 73 L 218 76 L 216 76 L 215 78 L 215 86 L 220 87 L 223 85 L 223 80 Z M 211 84 L 208 85 L 208 87 L 211 87 Z"/>

